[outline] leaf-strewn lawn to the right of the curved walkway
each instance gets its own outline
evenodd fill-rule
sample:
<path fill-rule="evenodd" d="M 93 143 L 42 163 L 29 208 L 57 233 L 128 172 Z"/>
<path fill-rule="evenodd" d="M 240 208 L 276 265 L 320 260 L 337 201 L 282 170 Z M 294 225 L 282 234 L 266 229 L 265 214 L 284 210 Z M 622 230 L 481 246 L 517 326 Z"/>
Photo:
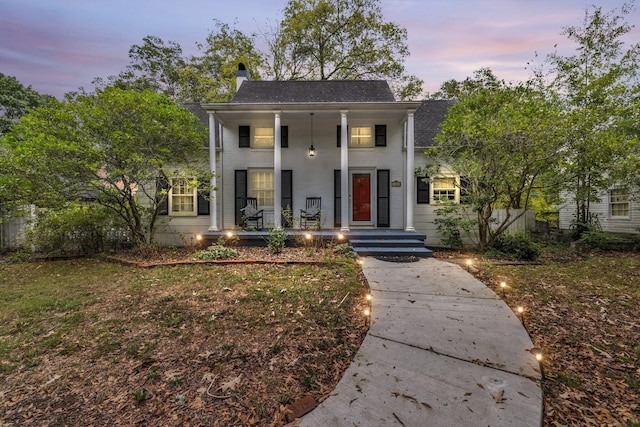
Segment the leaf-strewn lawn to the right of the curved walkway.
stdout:
<path fill-rule="evenodd" d="M 639 253 L 476 264 L 544 350 L 545 425 L 640 426 Z"/>

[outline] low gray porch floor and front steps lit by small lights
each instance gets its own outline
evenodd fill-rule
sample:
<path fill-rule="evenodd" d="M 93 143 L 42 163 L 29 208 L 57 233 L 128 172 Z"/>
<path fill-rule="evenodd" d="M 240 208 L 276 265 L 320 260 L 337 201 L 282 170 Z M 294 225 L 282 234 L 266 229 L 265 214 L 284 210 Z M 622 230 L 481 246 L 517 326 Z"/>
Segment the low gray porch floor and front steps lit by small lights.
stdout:
<path fill-rule="evenodd" d="M 229 238 L 229 233 L 238 239 L 241 246 L 267 246 L 268 230 L 221 230 L 202 234 L 205 244 Z M 286 245 L 302 246 L 307 239 L 316 239 L 324 244 L 349 243 L 361 256 L 414 256 L 429 258 L 433 253 L 424 247 L 426 236 L 415 231 L 400 229 L 355 229 L 341 233 L 339 229 L 303 230 L 287 229 Z M 307 237 L 309 236 L 309 237 Z"/>

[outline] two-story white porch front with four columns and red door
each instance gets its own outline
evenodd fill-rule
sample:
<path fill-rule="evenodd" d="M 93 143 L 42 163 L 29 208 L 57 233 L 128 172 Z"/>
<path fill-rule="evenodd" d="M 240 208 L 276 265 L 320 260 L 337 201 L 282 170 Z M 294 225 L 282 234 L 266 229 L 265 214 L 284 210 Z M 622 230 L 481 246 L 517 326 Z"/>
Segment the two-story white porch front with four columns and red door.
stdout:
<path fill-rule="evenodd" d="M 322 228 L 343 233 L 363 227 L 415 231 L 411 200 L 416 103 L 203 107 L 209 114 L 211 138 L 216 127 L 221 135 L 217 149 L 209 144 L 212 186 L 218 188 L 210 199 L 210 232 L 241 226 L 244 201 L 266 193 L 252 189 L 255 183 L 266 182 L 253 178 L 259 174 L 272 183 L 269 202 L 258 204 L 264 210 L 264 228 L 286 226 L 280 212 L 290 209 L 297 219 L 305 200 L 317 197 L 322 199 Z M 253 126 L 247 129 L 247 143 L 242 142 L 242 132 L 249 126 L 243 123 Z M 365 127 L 372 132 L 384 129 L 383 143 L 373 141 L 376 135 L 368 146 L 352 143 L 350 132 Z M 270 145 L 254 145 L 257 131 L 265 128 L 273 132 Z"/>

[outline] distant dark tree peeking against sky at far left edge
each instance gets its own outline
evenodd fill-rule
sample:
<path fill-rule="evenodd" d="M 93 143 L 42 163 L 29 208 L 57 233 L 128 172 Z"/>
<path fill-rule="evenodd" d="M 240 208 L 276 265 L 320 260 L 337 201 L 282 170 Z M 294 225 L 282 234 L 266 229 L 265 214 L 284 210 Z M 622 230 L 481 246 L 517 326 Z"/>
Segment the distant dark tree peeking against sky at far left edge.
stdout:
<path fill-rule="evenodd" d="M 15 77 L 0 73 L 0 135 L 11 129 L 29 109 L 45 105 L 54 99 L 41 95 L 31 86 L 25 87 Z"/>

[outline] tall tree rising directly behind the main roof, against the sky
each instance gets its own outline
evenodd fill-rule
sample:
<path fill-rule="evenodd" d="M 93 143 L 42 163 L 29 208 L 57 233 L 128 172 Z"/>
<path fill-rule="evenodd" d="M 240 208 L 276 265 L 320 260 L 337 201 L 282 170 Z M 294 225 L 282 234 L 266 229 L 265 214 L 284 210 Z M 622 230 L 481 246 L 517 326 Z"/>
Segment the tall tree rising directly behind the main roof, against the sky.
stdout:
<path fill-rule="evenodd" d="M 290 0 L 269 48 L 276 80 L 387 79 L 402 99 L 421 92 L 405 74 L 407 31 L 383 20 L 379 0 Z"/>

